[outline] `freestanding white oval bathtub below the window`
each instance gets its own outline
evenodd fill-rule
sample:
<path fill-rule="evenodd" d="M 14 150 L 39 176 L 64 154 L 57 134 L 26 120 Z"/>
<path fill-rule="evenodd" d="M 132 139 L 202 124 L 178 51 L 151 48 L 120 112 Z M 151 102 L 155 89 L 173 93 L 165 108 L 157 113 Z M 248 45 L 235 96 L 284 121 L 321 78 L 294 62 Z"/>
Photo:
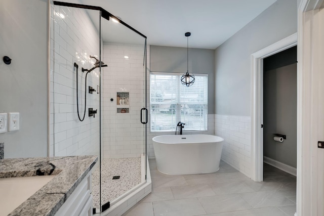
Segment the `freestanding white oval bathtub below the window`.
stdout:
<path fill-rule="evenodd" d="M 224 140 L 221 137 L 164 135 L 152 140 L 157 169 L 164 174 L 203 174 L 219 169 Z"/>

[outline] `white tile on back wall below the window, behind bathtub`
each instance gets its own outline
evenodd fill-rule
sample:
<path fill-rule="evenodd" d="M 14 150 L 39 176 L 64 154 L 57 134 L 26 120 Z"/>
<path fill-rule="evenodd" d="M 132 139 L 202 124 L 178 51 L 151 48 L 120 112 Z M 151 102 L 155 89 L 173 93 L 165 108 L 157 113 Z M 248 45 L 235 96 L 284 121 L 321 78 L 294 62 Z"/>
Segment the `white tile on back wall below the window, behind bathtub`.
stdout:
<path fill-rule="evenodd" d="M 148 83 L 149 85 L 149 83 Z M 149 86 L 148 86 L 149 89 Z M 149 95 L 149 94 L 148 94 Z M 149 98 L 148 98 L 148 104 L 149 104 Z M 149 105 L 148 105 L 149 107 Z M 205 132 L 192 132 L 192 131 L 183 131 L 183 134 L 209 134 L 214 135 L 215 134 L 215 114 L 208 114 L 208 131 Z M 150 120 L 148 120 L 147 123 L 147 156 L 149 158 L 155 158 L 154 155 L 154 149 L 153 149 L 153 137 L 161 136 L 161 135 L 175 135 L 176 132 L 176 126 L 174 125 L 174 131 L 173 132 L 150 132 Z"/>

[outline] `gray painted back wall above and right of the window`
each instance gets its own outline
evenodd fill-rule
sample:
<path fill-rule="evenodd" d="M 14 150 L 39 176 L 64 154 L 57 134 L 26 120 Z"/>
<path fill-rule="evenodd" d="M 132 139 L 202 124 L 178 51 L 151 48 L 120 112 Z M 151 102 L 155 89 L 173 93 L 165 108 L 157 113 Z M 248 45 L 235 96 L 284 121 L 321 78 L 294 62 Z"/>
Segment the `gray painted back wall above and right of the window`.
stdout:
<path fill-rule="evenodd" d="M 214 50 L 189 48 L 189 73 L 208 74 L 208 113 L 215 110 Z M 150 46 L 150 71 L 187 72 L 187 48 Z"/>

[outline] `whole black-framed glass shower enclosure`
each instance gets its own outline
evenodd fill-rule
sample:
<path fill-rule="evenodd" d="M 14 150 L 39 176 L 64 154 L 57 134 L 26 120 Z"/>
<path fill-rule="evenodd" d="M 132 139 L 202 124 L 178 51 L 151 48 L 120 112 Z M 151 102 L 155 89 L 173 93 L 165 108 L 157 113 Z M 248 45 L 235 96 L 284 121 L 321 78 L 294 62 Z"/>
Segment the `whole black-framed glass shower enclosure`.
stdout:
<path fill-rule="evenodd" d="M 100 7 L 51 4 L 51 156 L 97 155 L 94 213 L 146 182 L 146 36 Z"/>

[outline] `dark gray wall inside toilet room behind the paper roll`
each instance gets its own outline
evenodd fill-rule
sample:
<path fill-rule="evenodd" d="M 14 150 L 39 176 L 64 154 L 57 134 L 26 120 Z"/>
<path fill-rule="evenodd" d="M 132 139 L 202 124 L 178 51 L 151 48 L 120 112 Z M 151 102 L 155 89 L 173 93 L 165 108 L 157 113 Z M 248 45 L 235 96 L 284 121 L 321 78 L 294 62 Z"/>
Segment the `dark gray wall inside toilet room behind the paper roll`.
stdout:
<path fill-rule="evenodd" d="M 264 59 L 263 73 L 263 154 L 293 167 L 297 167 L 296 59 L 296 47 L 275 54 Z M 275 142 L 273 134 L 287 139 Z"/>

